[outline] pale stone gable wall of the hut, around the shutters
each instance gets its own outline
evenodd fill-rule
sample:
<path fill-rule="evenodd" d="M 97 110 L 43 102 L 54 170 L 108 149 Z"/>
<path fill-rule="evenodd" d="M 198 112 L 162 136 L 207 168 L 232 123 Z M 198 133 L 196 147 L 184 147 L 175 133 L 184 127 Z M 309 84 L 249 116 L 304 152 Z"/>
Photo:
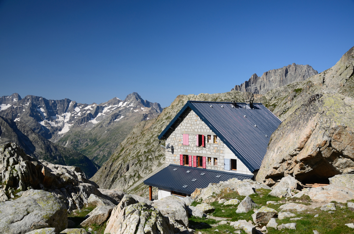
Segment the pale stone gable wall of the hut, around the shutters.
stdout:
<path fill-rule="evenodd" d="M 183 145 L 183 134 L 188 134 L 189 145 Z M 197 146 L 196 135 L 205 135 L 205 147 Z M 211 135 L 211 142 L 207 142 L 207 135 Z M 206 169 L 224 170 L 224 158 L 236 159 L 237 170 L 239 174 L 253 175 L 252 172 L 235 156 L 235 154 L 218 138 L 217 143 L 213 143 L 213 136 L 216 134 L 195 114 L 194 111 L 186 113 L 181 117 L 181 121 L 176 129 L 170 134 L 166 142 L 173 146 L 173 154 L 171 149 L 165 151 L 166 166 L 170 164 L 180 164 L 179 155 L 192 155 L 206 157 Z M 211 165 L 208 162 L 211 159 Z M 217 165 L 214 165 L 214 159 L 217 159 Z M 188 164 L 188 163 L 187 163 Z"/>

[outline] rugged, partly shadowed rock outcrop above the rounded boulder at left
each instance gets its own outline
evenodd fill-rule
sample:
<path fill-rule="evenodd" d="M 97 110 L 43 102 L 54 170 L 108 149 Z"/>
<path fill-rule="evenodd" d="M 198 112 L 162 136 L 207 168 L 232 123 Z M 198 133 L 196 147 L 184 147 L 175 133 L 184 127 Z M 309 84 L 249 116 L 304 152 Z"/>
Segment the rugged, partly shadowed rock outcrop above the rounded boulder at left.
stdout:
<path fill-rule="evenodd" d="M 0 160 L 0 201 L 22 195 L 23 192 L 16 192 L 30 188 L 52 193 L 65 203 L 69 211 L 81 209 L 91 194 L 109 200 L 112 205 L 120 201 L 114 191 L 102 194 L 94 182 L 86 179 L 80 168 L 37 160 L 26 155 L 16 144 L 0 145 Z M 110 198 L 109 194 L 115 195 Z"/>

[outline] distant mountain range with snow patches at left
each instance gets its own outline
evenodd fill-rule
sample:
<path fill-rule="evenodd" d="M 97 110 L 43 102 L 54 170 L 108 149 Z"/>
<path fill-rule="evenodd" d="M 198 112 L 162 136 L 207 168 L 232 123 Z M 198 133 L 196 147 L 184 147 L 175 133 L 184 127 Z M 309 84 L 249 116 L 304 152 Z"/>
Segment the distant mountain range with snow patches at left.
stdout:
<path fill-rule="evenodd" d="M 113 98 L 90 105 L 33 95 L 22 99 L 17 93 L 0 98 L 0 116 L 9 126 L 25 124 L 44 139 L 101 165 L 138 122 L 155 118 L 162 110 L 160 104 L 143 100 L 137 93 L 125 100 Z"/>

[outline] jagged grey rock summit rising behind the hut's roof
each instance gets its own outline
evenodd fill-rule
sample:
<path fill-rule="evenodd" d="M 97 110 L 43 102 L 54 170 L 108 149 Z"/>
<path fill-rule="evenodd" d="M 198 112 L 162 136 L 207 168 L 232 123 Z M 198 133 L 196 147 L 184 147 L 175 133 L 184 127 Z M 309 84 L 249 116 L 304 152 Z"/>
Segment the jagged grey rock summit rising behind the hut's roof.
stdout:
<path fill-rule="evenodd" d="M 231 91 L 236 90 L 241 92 L 251 92 L 254 94 L 265 94 L 269 90 L 293 82 L 304 81 L 317 74 L 318 71 L 314 70 L 310 65 L 293 63 L 279 69 L 266 71 L 261 77 L 257 76 L 255 73 L 248 81 L 245 81 L 241 85 L 236 85 Z"/>

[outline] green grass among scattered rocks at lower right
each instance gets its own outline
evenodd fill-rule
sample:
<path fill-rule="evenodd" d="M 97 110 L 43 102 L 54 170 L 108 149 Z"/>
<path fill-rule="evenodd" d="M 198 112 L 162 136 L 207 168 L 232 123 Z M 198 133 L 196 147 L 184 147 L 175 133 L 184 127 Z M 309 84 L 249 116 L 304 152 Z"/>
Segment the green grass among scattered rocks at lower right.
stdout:
<path fill-rule="evenodd" d="M 291 201 L 300 204 L 309 205 L 310 199 L 307 196 L 302 196 L 301 198 L 297 199 L 282 199 L 277 197 L 272 197 L 267 195 L 270 192 L 269 189 L 257 189 L 256 194 L 250 195 L 253 201 L 256 204 L 261 206 L 268 206 L 270 208 L 276 209 L 278 212 L 279 207 L 284 204 L 267 204 L 267 201 Z M 237 198 L 240 201 L 245 198 L 245 196 L 240 196 L 237 192 L 229 192 L 229 193 L 221 193 L 218 194 L 218 198 L 225 198 L 225 199 L 234 199 Z M 354 199 L 352 200 L 354 201 Z M 348 201 L 350 202 L 350 201 Z M 219 204 L 217 201 L 210 203 L 213 207 L 215 207 L 215 211 L 212 213 L 215 217 L 224 217 L 229 218 L 228 221 L 238 221 L 238 220 L 246 220 L 246 221 L 253 221 L 251 215 L 254 213 L 253 210 L 247 213 L 236 213 L 236 209 L 238 205 L 223 205 Z M 295 213 L 295 217 L 303 217 L 301 220 L 290 220 L 290 218 L 285 218 L 284 220 L 276 219 L 278 226 L 280 224 L 285 223 L 296 223 L 296 230 L 289 230 L 289 229 L 282 229 L 282 230 L 275 230 L 274 228 L 267 228 L 269 234 L 281 234 L 281 233 L 294 233 L 294 234 L 313 234 L 313 230 L 317 230 L 321 234 L 346 234 L 346 233 L 353 233 L 353 229 L 345 226 L 346 223 L 353 223 L 354 222 L 354 212 L 341 209 L 340 206 L 346 204 L 337 203 L 337 210 L 333 214 L 329 214 L 327 211 L 320 210 L 320 207 L 315 209 L 309 209 L 303 212 L 296 212 L 290 211 Z M 224 211 L 224 212 L 222 212 Z M 314 216 L 318 214 L 319 217 L 314 218 Z M 345 217 L 346 216 L 346 217 Z M 190 225 L 192 228 L 195 229 L 197 232 L 205 232 L 210 234 L 215 234 L 214 230 L 218 229 L 219 233 L 228 233 L 234 232 L 234 228 L 231 227 L 229 224 L 219 225 L 219 226 L 211 226 L 212 224 L 216 224 L 219 221 L 215 221 L 213 219 L 202 220 L 199 218 L 191 217 L 189 218 Z M 259 224 L 258 227 L 262 228 L 266 224 Z M 257 226 L 256 226 L 257 227 Z M 242 232 L 244 233 L 244 232 Z"/>

